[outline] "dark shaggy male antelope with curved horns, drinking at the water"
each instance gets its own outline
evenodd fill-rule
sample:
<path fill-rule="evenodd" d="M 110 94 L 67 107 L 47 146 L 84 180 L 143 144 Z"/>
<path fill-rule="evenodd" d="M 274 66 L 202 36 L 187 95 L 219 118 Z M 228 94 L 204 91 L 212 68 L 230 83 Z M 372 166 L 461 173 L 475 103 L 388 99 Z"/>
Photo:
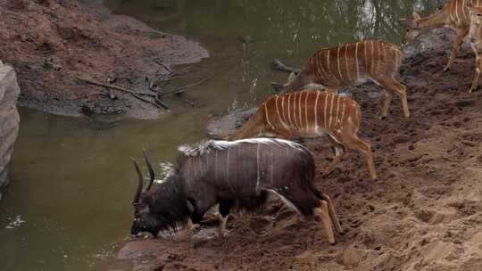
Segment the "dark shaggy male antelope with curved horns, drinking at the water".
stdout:
<path fill-rule="evenodd" d="M 327 194 L 313 184 L 312 153 L 286 140 L 254 138 L 235 142 L 208 141 L 179 148 L 184 159 L 165 182 L 155 185 L 154 170 L 145 155 L 150 181 L 142 191 L 143 177 L 137 163 L 138 185 L 134 196 L 135 218 L 131 234 L 156 236 L 179 224 L 198 223 L 213 205 L 220 205 L 220 236 L 224 235 L 231 208 L 253 210 L 278 195 L 306 217 L 321 219 L 329 243 L 335 243 L 333 226 L 340 234 L 335 208 Z"/>

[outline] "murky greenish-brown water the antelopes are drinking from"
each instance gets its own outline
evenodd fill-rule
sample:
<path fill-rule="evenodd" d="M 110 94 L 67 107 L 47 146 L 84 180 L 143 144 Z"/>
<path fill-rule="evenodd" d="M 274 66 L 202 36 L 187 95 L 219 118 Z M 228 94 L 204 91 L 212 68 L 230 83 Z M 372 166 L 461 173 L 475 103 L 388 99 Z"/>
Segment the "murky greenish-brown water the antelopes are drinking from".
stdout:
<path fill-rule="evenodd" d="M 157 120 L 21 110 L 12 185 L 0 201 L 0 270 L 112 268 L 113 251 L 129 238 L 135 190 L 129 157 L 140 160 L 145 147 L 161 174 L 161 163 L 175 160 L 179 144 L 205 137 L 212 115 L 260 103 L 270 81 L 286 78 L 270 70 L 272 58 L 297 67 L 323 46 L 364 37 L 399 43 L 395 21 L 414 9 L 433 10 L 431 2 L 107 1 L 113 12 L 199 40 L 210 51 L 210 59 L 174 84 L 214 77 L 170 98 L 172 111 Z"/>

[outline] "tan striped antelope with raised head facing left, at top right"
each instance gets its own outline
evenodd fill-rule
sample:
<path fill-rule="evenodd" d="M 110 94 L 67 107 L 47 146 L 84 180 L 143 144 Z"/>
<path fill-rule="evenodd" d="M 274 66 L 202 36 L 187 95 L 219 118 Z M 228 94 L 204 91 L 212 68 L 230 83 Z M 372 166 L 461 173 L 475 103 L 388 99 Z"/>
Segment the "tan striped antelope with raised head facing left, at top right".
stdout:
<path fill-rule="evenodd" d="M 457 38 L 453 43 L 452 54 L 445 66 L 444 71 L 450 70 L 453 61 L 457 57 L 457 51 L 463 42 L 463 38 L 467 36 L 470 28 L 470 14 L 467 4 L 478 6 L 482 4 L 482 0 L 452 0 L 445 4 L 442 10 L 437 11 L 427 17 L 420 17 L 417 12 L 413 12 L 413 20 L 401 19 L 401 24 L 406 27 L 404 41 L 411 43 L 415 38 L 420 36 L 423 29 L 438 29 L 448 26 L 457 31 Z"/>

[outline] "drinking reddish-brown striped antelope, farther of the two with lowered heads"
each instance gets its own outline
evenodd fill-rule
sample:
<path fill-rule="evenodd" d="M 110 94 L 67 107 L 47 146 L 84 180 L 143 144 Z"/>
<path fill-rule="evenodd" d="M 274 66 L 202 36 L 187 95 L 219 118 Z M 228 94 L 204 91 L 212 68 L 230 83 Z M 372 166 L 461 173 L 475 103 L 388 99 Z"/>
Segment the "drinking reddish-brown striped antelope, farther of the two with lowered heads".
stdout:
<path fill-rule="evenodd" d="M 287 84 L 271 85 L 277 91 L 324 88 L 336 92 L 341 87 L 361 85 L 370 79 L 385 89 L 381 118 L 386 117 L 393 94 L 400 96 L 403 115 L 409 118 L 406 87 L 398 81 L 403 59 L 403 52 L 396 45 L 381 40 L 364 40 L 321 49 L 308 60 L 301 72 L 290 75 Z"/>

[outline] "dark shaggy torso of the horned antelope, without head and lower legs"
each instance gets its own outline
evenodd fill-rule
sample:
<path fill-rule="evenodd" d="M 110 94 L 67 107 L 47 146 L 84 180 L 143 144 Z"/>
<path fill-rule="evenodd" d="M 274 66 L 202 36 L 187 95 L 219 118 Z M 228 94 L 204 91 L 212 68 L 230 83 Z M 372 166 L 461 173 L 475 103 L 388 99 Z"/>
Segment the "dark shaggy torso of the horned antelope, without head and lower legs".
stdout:
<path fill-rule="evenodd" d="M 266 192 L 277 193 L 305 216 L 320 204 L 321 194 L 312 184 L 312 154 L 300 144 L 255 138 L 179 150 L 186 160 L 177 175 L 198 216 L 219 201 L 253 209 L 266 200 Z"/>

